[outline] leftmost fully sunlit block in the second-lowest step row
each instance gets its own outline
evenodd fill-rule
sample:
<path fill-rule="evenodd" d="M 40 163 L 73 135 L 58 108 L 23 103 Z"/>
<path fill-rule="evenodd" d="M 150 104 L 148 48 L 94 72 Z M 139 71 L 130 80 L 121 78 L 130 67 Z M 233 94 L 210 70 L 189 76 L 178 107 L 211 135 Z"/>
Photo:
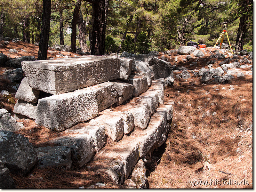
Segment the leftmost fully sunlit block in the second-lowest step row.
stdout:
<path fill-rule="evenodd" d="M 94 141 L 95 151 L 99 152 L 100 149 L 104 146 L 107 141 L 105 135 L 105 126 L 104 125 L 96 125 L 92 122 L 89 123 L 79 123 L 76 124 L 69 129 L 65 130 L 66 133 L 72 134 L 87 134 L 92 137 Z"/>

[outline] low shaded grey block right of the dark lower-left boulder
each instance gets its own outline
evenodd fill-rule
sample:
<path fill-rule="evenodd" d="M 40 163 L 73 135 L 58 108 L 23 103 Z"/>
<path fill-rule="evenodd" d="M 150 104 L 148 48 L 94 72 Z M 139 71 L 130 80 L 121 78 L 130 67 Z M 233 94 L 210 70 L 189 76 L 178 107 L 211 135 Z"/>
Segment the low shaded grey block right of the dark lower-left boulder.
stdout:
<path fill-rule="evenodd" d="M 36 166 L 44 167 L 61 167 L 71 168 L 71 150 L 69 147 L 39 147 L 36 148 L 37 163 Z"/>

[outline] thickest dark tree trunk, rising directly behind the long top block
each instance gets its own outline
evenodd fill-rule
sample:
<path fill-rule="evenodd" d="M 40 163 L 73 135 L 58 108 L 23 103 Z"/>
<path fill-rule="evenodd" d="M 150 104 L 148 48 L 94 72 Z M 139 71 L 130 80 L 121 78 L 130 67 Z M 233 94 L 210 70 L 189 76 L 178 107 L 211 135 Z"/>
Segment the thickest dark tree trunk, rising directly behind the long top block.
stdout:
<path fill-rule="evenodd" d="M 92 3 L 91 55 L 105 55 L 105 32 L 109 0 L 87 1 Z"/>

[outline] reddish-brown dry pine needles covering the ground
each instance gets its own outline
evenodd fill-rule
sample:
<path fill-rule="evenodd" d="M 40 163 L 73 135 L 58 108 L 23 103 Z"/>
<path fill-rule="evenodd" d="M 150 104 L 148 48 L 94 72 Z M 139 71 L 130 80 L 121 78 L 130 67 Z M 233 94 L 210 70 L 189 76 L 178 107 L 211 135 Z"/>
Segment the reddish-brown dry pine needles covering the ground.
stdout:
<path fill-rule="evenodd" d="M 18 53 L 9 53 L 11 48 Z M 20 48 L 27 54 L 21 53 Z M 1 52 L 12 58 L 37 57 L 37 51 L 37 46 L 23 42 L 1 47 Z M 59 53 L 72 56 L 58 51 L 49 53 L 48 59 Z M 193 60 L 184 65 L 180 62 L 182 58 L 179 56 L 178 65 L 195 69 L 189 65 Z M 173 63 L 173 59 L 170 57 L 169 61 Z M 196 69 L 206 67 L 205 63 L 198 63 Z M 1 74 L 5 69 L 8 68 L 1 67 Z M 166 143 L 153 152 L 157 156 L 155 164 L 147 167 L 149 188 L 252 188 L 252 76 L 232 79 L 231 84 L 202 84 L 200 78 L 175 79 L 172 87 L 165 88 L 165 103 L 173 105 L 173 120 Z M 12 83 L 1 79 L 1 91 L 4 89 L 15 96 Z M 13 100 L 10 103 L 1 98 L 1 108 L 12 115 L 16 99 Z M 213 112 L 216 115 L 212 116 Z M 60 134 L 32 120 L 23 122 L 25 129 L 17 133 L 28 137 L 36 147 L 44 147 L 47 140 Z M 208 156 L 210 170 L 204 168 L 199 151 Z M 87 188 L 96 182 L 106 184 L 104 188 L 125 188 L 86 165 L 71 170 L 36 168 L 27 176 L 11 176 L 18 188 Z"/>

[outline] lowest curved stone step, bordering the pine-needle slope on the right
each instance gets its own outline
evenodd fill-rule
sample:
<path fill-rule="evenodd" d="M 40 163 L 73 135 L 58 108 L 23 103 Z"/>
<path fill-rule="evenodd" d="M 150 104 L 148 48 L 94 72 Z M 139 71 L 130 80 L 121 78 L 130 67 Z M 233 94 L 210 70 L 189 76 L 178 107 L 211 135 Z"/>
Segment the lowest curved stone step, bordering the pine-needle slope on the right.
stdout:
<path fill-rule="evenodd" d="M 88 165 L 122 184 L 138 160 L 165 141 L 166 136 L 163 135 L 168 134 L 171 121 L 172 106 L 159 106 L 146 129 L 135 129 L 129 136 L 102 148 Z"/>

